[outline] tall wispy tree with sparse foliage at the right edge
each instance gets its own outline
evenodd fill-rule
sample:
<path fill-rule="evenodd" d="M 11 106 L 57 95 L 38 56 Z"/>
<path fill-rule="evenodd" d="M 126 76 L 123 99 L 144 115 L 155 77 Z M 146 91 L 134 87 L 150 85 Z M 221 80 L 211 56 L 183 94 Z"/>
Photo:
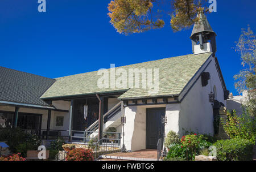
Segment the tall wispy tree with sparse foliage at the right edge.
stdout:
<path fill-rule="evenodd" d="M 248 26 L 247 30 L 242 29 L 242 34 L 236 42 L 236 51 L 241 55 L 243 69 L 234 76 L 235 87 L 238 92 L 247 91 L 243 107 L 247 114 L 256 116 L 256 36 Z"/>

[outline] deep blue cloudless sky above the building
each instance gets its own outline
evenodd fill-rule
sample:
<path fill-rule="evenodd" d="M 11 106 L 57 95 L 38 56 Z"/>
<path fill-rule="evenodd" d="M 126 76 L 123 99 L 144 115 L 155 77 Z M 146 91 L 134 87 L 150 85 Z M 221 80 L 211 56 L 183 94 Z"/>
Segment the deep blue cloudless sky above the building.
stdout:
<path fill-rule="evenodd" d="M 99 68 L 191 54 L 192 28 L 172 32 L 166 27 L 130 36 L 120 35 L 109 23 L 110 0 L 0 1 L 0 66 L 49 78 Z M 255 0 L 217 0 L 217 12 L 207 18 L 217 33 L 217 57 L 228 89 L 237 94 L 233 75 L 241 69 L 235 46 L 241 28 L 256 29 Z"/>

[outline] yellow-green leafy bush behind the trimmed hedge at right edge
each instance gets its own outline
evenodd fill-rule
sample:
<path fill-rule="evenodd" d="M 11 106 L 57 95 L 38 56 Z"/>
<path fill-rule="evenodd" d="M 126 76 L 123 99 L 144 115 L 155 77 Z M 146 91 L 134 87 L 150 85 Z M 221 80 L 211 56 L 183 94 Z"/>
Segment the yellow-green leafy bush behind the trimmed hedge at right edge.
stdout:
<path fill-rule="evenodd" d="M 233 110 L 233 114 L 228 112 L 228 118 L 226 121 L 222 119 L 223 128 L 226 134 L 231 138 L 240 137 L 242 139 L 248 139 L 251 143 L 255 143 L 256 139 L 256 120 L 249 115 L 241 115 L 238 117 L 236 111 Z"/>

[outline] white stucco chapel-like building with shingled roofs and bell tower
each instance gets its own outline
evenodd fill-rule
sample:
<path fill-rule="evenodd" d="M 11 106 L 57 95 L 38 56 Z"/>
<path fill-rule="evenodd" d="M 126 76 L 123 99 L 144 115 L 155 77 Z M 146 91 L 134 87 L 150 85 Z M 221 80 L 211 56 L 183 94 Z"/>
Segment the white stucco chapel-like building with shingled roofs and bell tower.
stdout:
<path fill-rule="evenodd" d="M 226 106 L 229 91 L 215 56 L 216 33 L 203 14 L 199 17 L 200 21 L 195 24 L 190 37 L 193 54 L 110 68 L 102 75 L 94 71 L 46 79 L 48 84 L 40 89 L 40 93 L 36 83 L 31 87 L 29 78 L 41 81 L 45 78 L 32 74 L 26 78 L 28 74 L 24 72 L 1 68 L 0 76 L 6 85 L 0 87 L 1 92 L 10 89 L 8 85 L 12 85 L 11 92 L 15 92 L 13 96 L 10 96 L 11 92 L 0 96 L 2 126 L 9 120 L 10 126 L 36 130 L 40 134 L 45 130 L 47 136 L 59 132 L 61 136 L 68 136 L 69 141 L 86 142 L 85 135 L 100 140 L 110 128 L 123 132 L 121 117 L 126 117 L 125 137 L 118 143 L 124 141 L 127 151 L 156 149 L 158 140 L 164 139 L 164 132 L 167 134 L 171 130 L 180 136 L 185 131 L 217 134 L 214 117 L 218 115 L 220 106 Z M 130 69 L 139 72 L 125 75 L 125 71 Z M 154 71 L 151 75 L 155 84 L 153 88 L 148 87 L 150 75 L 143 73 L 148 70 Z M 11 81 L 5 77 L 9 72 L 14 78 Z M 114 82 L 112 74 L 117 79 Z M 20 87 L 15 75 L 28 81 Z M 98 82 L 104 75 L 108 76 L 110 87 L 108 84 L 107 87 L 99 87 Z M 124 82 L 126 79 L 134 81 L 134 84 Z M 117 87 L 120 80 L 123 87 Z M 136 84 L 142 87 L 134 87 Z M 24 91 L 24 96 L 18 90 L 25 88 L 29 91 Z M 26 120 L 33 115 L 40 117 L 36 118 L 38 124 L 27 124 Z"/>

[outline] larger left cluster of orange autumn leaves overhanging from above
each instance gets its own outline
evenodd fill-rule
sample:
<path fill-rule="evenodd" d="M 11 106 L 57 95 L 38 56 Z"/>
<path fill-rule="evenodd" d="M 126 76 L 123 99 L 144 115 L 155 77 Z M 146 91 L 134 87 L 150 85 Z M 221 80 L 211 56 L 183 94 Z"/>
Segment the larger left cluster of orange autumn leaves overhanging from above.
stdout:
<path fill-rule="evenodd" d="M 113 0 L 109 3 L 110 23 L 119 33 L 139 33 L 151 28 L 162 28 L 164 21 L 153 20 L 151 0 Z"/>

